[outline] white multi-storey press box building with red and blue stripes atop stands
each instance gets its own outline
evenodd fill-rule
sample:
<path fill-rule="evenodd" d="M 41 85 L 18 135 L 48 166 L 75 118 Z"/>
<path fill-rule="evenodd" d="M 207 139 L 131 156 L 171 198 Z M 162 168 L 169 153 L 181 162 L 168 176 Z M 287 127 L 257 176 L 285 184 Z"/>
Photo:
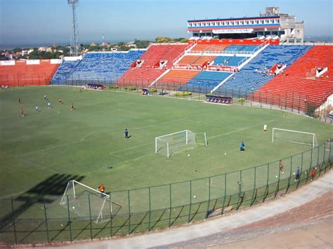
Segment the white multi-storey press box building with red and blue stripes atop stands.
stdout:
<path fill-rule="evenodd" d="M 294 15 L 282 14 L 278 7 L 254 17 L 188 20 L 188 32 L 195 37 L 218 39 L 280 39 L 280 42 L 303 43 L 303 22 Z"/>

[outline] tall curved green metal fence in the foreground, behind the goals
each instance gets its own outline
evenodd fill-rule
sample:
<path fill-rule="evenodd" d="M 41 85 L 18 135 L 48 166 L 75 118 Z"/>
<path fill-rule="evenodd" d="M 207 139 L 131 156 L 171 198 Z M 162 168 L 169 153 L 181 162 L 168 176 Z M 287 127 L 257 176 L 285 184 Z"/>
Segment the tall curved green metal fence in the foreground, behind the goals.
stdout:
<path fill-rule="evenodd" d="M 288 158 L 234 172 L 159 186 L 113 191 L 112 213 L 94 222 L 96 204 L 81 200 L 90 215 L 78 216 L 61 196 L 0 199 L 0 240 L 5 243 L 55 243 L 122 236 L 223 215 L 289 193 L 332 168 L 331 142 Z M 283 168 L 281 168 L 283 163 Z M 295 172 L 299 168 L 299 178 Z M 315 171 L 313 174 L 313 170 Z M 31 194 L 31 193 L 30 193 Z M 97 207 L 99 208 L 99 206 Z"/>

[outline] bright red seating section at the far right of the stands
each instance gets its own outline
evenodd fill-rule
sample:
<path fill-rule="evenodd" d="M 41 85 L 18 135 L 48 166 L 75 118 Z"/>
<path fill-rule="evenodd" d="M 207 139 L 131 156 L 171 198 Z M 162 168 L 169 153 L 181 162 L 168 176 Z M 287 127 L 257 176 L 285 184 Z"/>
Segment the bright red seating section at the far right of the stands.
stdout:
<path fill-rule="evenodd" d="M 307 74 L 315 67 L 328 67 L 328 71 L 318 79 L 309 79 Z M 252 97 L 258 100 L 263 93 L 275 95 L 276 101 L 284 100 L 287 107 L 319 107 L 333 93 L 333 46 L 314 46 L 283 74 L 261 86 Z"/>

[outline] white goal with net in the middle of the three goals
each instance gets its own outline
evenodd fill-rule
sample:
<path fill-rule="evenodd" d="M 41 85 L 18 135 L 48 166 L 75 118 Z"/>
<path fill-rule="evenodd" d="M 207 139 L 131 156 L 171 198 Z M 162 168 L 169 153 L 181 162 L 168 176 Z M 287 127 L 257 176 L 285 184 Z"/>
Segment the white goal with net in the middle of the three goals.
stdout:
<path fill-rule="evenodd" d="M 181 130 L 155 137 L 155 153 L 170 157 L 171 154 L 181 151 L 186 147 L 197 145 L 207 146 L 206 133 L 192 133 L 190 130 Z"/>

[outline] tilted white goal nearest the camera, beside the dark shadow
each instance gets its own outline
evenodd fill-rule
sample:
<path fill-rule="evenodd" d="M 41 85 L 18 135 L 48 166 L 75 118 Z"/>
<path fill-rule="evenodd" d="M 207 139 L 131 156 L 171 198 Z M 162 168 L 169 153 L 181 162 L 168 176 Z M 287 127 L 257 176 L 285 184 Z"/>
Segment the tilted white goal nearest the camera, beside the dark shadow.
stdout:
<path fill-rule="evenodd" d="M 60 205 L 76 213 L 83 220 L 96 223 L 111 219 L 112 202 L 108 194 L 70 180 L 61 198 Z"/>

